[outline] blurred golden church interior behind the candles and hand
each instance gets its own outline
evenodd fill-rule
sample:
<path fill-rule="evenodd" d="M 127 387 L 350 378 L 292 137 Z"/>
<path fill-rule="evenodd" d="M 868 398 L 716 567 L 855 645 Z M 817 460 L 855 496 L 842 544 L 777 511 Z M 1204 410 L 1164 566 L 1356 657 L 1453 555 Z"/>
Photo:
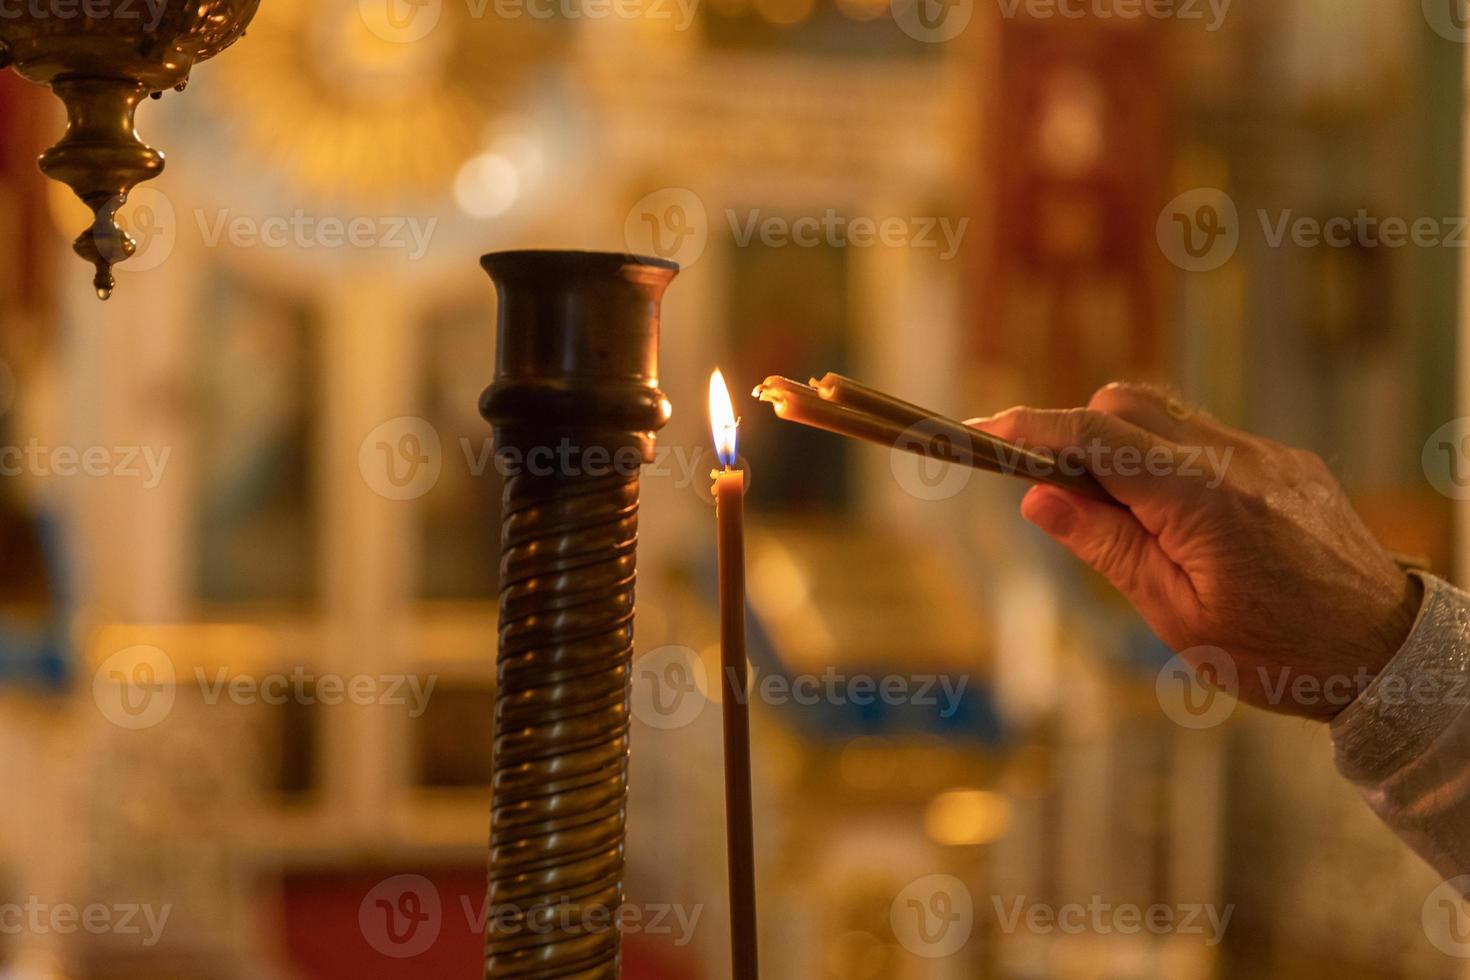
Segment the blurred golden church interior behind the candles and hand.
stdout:
<path fill-rule="evenodd" d="M 1167 382 L 1320 453 L 1394 550 L 1463 560 L 1420 469 L 1458 414 L 1460 253 L 1252 232 L 1261 210 L 1461 212 L 1464 50 L 1419 4 L 1239 3 L 1207 29 L 975 3 L 942 43 L 888 0 L 709 0 L 688 24 L 650 4 L 445 0 L 406 41 L 372 3 L 265 0 L 187 93 L 141 107 L 169 165 L 123 210 L 140 253 L 106 304 L 69 254 L 81 206 L 35 167 L 60 107 L 0 75 L 0 445 L 140 460 L 0 479 L 0 905 L 171 908 L 151 945 L 0 930 L 0 976 L 475 976 L 500 526 L 485 251 L 685 264 L 637 649 L 650 676 L 704 680 L 676 724 L 635 711 L 628 901 L 700 918 L 631 930 L 629 980 L 728 976 L 713 366 L 736 395 L 839 370 L 958 417 Z M 1185 272 L 1155 225 L 1201 187 L 1244 232 L 1232 262 Z M 829 212 L 963 237 L 950 254 L 747 234 Z M 328 241 L 354 219 L 370 241 Z M 1435 877 L 1335 776 L 1326 732 L 1167 717 L 1170 651 L 1022 522 L 1023 486 L 739 410 L 756 673 L 964 682 L 945 711 L 754 699 L 767 976 L 1467 976 L 1420 924 Z M 398 463 L 432 473 L 404 486 Z M 176 698 L 119 724 L 96 685 L 140 646 L 168 652 Z M 272 704 L 196 676 L 434 686 L 422 705 Z M 403 874 L 432 882 L 442 921 L 391 958 L 360 911 Z M 944 956 L 891 923 L 929 874 L 975 904 Z M 1232 917 L 1219 942 L 1041 932 L 1007 924 L 1016 896 Z"/>

